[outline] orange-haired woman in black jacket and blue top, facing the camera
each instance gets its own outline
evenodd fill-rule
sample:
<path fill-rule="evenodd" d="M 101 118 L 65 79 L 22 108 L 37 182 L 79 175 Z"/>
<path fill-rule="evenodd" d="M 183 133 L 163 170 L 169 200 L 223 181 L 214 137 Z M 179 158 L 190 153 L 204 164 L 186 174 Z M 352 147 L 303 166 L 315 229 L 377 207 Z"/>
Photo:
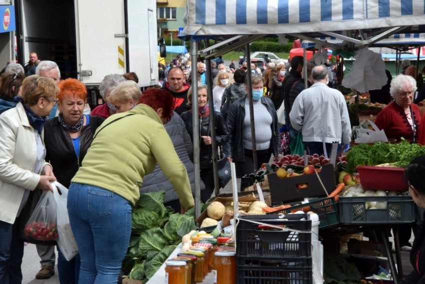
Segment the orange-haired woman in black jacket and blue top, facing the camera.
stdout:
<path fill-rule="evenodd" d="M 68 78 L 59 82 L 57 95 L 59 116 L 47 120 L 44 124 L 44 143 L 46 161 L 53 166 L 59 183 L 69 187 L 81 162 L 93 141 L 93 133 L 105 120 L 100 116 L 84 115 L 87 102 L 87 89 L 77 79 Z M 57 248 L 57 270 L 61 284 L 78 283 L 80 257 L 66 261 Z M 50 268 L 47 266 L 47 268 Z M 53 267 L 52 267 L 53 268 Z M 54 268 L 53 268 L 54 269 Z"/>

